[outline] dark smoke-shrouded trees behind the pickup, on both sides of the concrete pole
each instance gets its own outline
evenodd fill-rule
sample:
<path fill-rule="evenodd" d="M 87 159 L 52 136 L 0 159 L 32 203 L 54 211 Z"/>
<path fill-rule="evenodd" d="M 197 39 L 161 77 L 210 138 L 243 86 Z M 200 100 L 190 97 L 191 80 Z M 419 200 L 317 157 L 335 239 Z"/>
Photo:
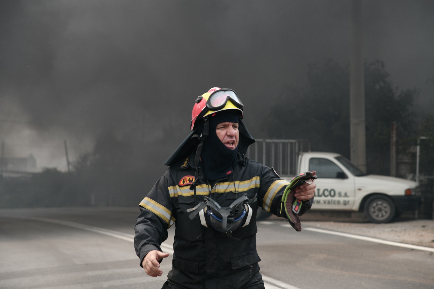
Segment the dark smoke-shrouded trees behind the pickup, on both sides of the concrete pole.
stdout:
<path fill-rule="evenodd" d="M 400 139 L 409 139 L 416 89 L 394 88 L 381 61 L 365 63 L 365 120 L 368 152 L 386 153 L 391 122 Z M 313 150 L 349 157 L 349 65 L 332 59 L 310 65 L 306 87 L 286 86 L 277 97 L 264 129 L 270 137 L 307 139 Z"/>

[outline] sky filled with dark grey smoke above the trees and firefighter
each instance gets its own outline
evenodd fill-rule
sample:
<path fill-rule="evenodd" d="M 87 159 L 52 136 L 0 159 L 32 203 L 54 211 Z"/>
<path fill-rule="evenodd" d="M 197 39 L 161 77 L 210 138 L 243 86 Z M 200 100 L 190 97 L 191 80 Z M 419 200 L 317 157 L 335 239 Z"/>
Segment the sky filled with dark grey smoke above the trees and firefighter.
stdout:
<path fill-rule="evenodd" d="M 214 86 L 237 91 L 263 137 L 283 85 L 305 84 L 309 63 L 349 61 L 350 3 L 0 1 L 6 155 L 64 169 L 63 140 L 75 159 L 107 130 L 150 143 L 166 134 L 170 155 Z M 362 13 L 365 59 L 384 61 L 395 86 L 421 89 L 419 115 L 433 111 L 434 1 L 364 1 Z"/>

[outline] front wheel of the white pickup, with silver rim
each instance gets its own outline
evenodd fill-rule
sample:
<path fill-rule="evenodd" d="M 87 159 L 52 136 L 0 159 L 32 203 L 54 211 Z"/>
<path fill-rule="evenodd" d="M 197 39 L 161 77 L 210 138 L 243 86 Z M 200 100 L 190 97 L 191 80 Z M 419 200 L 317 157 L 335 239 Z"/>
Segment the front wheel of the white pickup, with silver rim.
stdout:
<path fill-rule="evenodd" d="M 374 195 L 366 201 L 365 214 L 372 223 L 388 223 L 395 218 L 395 205 L 390 198 Z"/>

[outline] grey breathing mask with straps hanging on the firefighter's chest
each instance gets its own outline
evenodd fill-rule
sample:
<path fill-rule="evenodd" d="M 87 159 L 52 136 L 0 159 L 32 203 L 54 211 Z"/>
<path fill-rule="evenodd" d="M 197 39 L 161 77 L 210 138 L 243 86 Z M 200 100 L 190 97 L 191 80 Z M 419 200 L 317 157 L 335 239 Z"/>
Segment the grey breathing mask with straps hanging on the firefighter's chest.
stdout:
<path fill-rule="evenodd" d="M 248 199 L 244 194 L 233 201 L 229 207 L 221 207 L 213 199 L 205 197 L 204 201 L 194 208 L 187 209 L 187 212 L 192 212 L 189 216 L 191 220 L 199 214 L 203 226 L 212 227 L 233 238 L 231 233 L 239 227 L 247 226 L 252 218 L 253 211 L 247 204 Z"/>

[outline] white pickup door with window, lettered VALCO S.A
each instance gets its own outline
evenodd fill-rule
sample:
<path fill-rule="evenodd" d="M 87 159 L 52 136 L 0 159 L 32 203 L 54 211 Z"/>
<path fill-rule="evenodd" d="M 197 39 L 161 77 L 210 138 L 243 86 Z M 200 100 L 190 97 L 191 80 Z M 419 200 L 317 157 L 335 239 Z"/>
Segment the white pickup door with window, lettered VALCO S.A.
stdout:
<path fill-rule="evenodd" d="M 352 209 L 354 176 L 344 170 L 330 159 L 309 159 L 309 171 L 316 171 L 318 176 L 312 209 Z"/>

